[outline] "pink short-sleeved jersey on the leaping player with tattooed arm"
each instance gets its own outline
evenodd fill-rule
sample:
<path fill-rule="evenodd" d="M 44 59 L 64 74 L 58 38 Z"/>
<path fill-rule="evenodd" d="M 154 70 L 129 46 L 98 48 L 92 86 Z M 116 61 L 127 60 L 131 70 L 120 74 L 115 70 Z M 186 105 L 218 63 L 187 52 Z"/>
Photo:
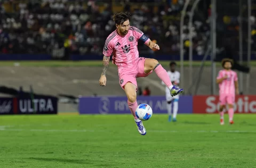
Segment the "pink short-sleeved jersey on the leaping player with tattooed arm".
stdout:
<path fill-rule="evenodd" d="M 103 55 L 110 56 L 113 53 L 112 62 L 117 65 L 118 69 L 127 68 L 132 66 L 139 57 L 138 40 L 141 39 L 148 43 L 144 33 L 130 26 L 125 36 L 120 36 L 117 30 L 113 31 L 107 38 L 103 48 Z"/>

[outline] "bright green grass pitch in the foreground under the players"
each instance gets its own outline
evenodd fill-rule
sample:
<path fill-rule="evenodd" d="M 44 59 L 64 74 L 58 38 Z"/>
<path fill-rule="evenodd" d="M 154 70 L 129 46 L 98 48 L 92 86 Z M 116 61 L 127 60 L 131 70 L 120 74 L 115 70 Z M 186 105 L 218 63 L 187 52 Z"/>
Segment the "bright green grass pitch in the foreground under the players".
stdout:
<path fill-rule="evenodd" d="M 255 120 L 153 115 L 141 136 L 131 115 L 1 116 L 0 167 L 256 167 Z"/>

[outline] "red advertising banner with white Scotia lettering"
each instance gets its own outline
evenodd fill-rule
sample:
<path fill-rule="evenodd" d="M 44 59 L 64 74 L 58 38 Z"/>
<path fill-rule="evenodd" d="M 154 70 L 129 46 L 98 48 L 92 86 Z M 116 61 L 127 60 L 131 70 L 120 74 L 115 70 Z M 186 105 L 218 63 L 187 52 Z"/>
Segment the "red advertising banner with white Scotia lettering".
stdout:
<path fill-rule="evenodd" d="M 219 96 L 193 96 L 193 113 L 218 113 L 218 109 Z M 226 109 L 228 109 L 228 107 L 226 107 Z M 235 113 L 256 113 L 256 95 L 237 95 L 234 111 Z"/>

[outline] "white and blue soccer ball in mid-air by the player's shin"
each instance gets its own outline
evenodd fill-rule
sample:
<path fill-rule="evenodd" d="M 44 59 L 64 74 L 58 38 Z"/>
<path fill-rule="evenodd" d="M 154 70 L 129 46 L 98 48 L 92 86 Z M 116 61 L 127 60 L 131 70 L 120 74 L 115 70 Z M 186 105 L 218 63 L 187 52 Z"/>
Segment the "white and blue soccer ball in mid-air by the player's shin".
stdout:
<path fill-rule="evenodd" d="M 135 111 L 137 118 L 143 121 L 149 120 L 152 114 L 152 108 L 148 104 L 140 104 Z"/>

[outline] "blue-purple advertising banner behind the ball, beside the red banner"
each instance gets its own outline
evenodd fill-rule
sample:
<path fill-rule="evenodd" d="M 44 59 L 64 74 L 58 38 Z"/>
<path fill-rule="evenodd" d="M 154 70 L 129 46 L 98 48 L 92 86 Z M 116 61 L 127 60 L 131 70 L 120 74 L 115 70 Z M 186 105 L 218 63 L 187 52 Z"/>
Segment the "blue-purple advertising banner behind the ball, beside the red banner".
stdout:
<path fill-rule="evenodd" d="M 167 113 L 165 96 L 138 96 L 138 105 L 146 103 L 153 113 Z M 180 96 L 178 113 L 192 113 L 193 96 Z M 102 96 L 79 98 L 80 114 L 129 114 L 125 96 Z"/>

